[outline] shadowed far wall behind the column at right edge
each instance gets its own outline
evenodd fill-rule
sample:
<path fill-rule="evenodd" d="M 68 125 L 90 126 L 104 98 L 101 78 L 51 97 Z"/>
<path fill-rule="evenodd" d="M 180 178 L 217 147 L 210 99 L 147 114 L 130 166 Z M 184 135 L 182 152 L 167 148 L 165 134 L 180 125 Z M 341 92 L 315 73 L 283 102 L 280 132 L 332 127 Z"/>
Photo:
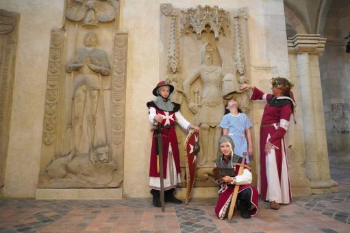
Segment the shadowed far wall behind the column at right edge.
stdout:
<path fill-rule="evenodd" d="M 321 57 L 322 93 L 330 164 L 350 165 L 350 3 L 333 1 L 325 20 L 325 53 Z"/>

